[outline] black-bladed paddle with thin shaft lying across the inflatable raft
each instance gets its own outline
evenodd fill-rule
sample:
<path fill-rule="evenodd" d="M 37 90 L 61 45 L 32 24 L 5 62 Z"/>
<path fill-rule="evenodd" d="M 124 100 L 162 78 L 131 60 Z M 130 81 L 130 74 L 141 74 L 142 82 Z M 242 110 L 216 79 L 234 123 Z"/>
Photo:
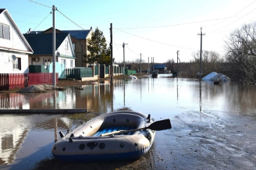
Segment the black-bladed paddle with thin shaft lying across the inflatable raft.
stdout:
<path fill-rule="evenodd" d="M 171 128 L 172 128 L 171 121 L 169 119 L 164 119 L 164 120 L 152 122 L 151 125 L 148 127 L 139 128 L 139 129 L 131 129 L 131 130 L 119 130 L 119 131 L 112 132 L 112 133 L 104 133 L 104 134 L 101 134 L 101 136 L 118 135 L 118 134 L 122 134 L 122 133 L 134 132 L 137 130 L 151 129 L 151 130 L 159 131 L 159 130 L 165 130 L 165 129 L 171 129 Z"/>

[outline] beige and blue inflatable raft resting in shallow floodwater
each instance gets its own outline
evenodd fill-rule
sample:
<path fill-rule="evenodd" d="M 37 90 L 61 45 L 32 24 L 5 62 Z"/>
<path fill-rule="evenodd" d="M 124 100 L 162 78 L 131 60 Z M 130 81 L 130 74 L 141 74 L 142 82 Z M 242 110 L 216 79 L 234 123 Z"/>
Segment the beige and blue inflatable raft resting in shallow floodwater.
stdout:
<path fill-rule="evenodd" d="M 137 159 L 148 152 L 154 141 L 155 130 L 145 128 L 153 121 L 150 115 L 140 112 L 100 115 L 66 135 L 60 132 L 61 138 L 52 147 L 52 154 L 61 161 Z"/>

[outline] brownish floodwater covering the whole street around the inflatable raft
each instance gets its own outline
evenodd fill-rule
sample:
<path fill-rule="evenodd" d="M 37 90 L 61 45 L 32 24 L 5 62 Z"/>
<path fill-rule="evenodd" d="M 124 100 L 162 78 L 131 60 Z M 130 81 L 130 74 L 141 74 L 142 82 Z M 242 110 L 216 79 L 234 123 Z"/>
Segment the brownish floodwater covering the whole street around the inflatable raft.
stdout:
<path fill-rule="evenodd" d="M 172 129 L 157 132 L 150 152 L 137 160 L 146 160 L 147 169 L 256 168 L 256 87 L 159 74 L 115 80 L 113 87 L 106 80 L 84 90 L 0 94 L 0 104 L 1 109 L 87 108 L 99 114 L 130 109 L 155 121 L 170 119 Z M 31 169 L 51 159 L 59 131 L 79 124 L 70 115 L 0 115 L 0 168 Z M 112 168 L 120 167 L 112 163 Z"/>

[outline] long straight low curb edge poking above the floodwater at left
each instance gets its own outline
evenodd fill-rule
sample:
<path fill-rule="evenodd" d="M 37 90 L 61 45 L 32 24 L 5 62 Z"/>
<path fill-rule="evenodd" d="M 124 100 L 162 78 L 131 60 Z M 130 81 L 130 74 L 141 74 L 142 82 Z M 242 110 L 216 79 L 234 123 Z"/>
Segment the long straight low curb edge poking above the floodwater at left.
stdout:
<path fill-rule="evenodd" d="M 33 113 L 43 113 L 43 114 L 65 114 L 65 113 L 85 113 L 87 108 L 71 108 L 71 109 L 0 109 L 2 114 L 33 114 Z"/>

